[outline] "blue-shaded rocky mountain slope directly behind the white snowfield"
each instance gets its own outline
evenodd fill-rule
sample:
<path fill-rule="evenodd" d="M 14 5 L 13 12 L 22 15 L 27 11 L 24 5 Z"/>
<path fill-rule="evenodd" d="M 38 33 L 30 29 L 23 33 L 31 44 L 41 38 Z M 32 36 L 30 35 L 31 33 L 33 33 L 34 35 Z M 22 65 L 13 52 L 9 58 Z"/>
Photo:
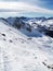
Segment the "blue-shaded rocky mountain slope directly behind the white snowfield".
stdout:
<path fill-rule="evenodd" d="M 28 23 L 28 20 L 30 19 L 27 17 L 0 19 L 0 21 L 6 22 L 6 24 L 12 25 L 13 27 L 19 29 L 27 36 L 41 37 L 42 35 Z"/>

